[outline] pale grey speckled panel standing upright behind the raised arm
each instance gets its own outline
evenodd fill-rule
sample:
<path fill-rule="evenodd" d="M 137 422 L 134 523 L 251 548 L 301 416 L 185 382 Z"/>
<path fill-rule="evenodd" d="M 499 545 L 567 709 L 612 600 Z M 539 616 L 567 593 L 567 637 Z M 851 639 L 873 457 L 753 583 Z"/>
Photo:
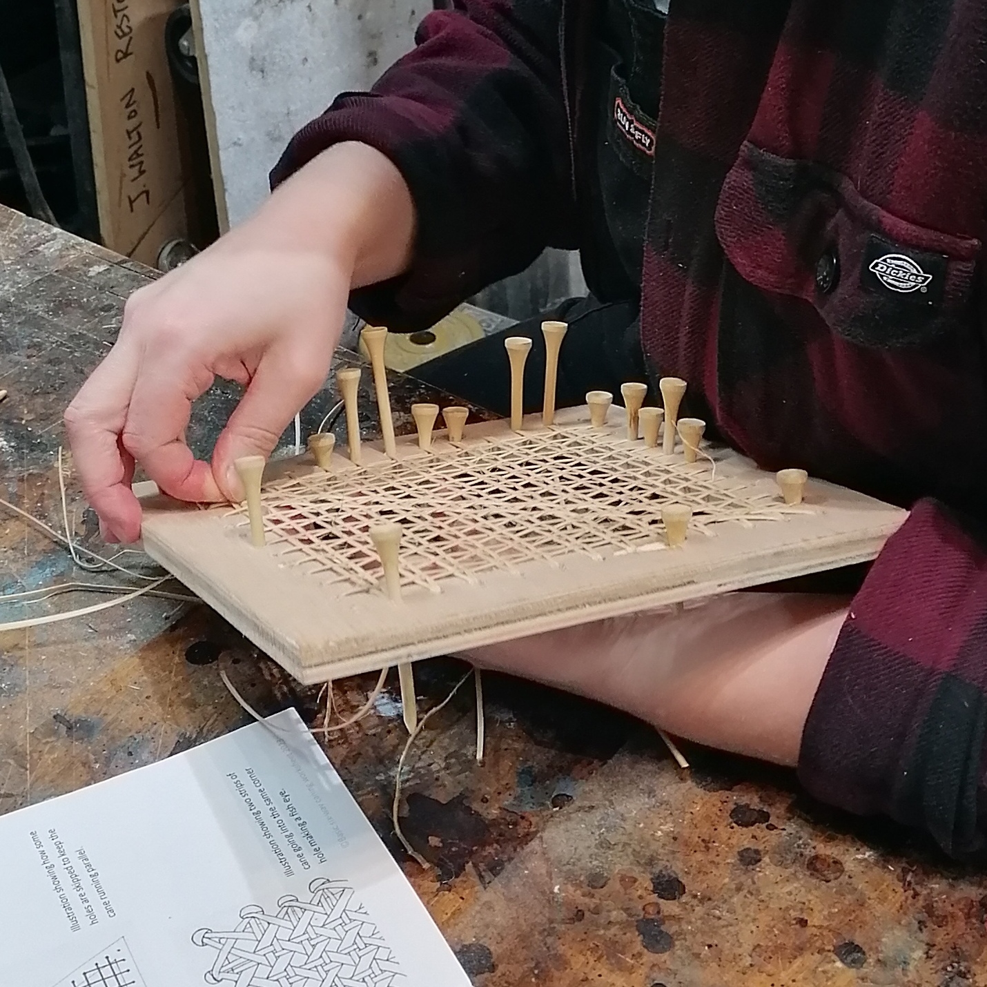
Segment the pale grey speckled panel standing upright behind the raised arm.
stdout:
<path fill-rule="evenodd" d="M 292 135 L 410 51 L 430 0 L 192 0 L 213 183 L 225 231 L 268 193 Z"/>

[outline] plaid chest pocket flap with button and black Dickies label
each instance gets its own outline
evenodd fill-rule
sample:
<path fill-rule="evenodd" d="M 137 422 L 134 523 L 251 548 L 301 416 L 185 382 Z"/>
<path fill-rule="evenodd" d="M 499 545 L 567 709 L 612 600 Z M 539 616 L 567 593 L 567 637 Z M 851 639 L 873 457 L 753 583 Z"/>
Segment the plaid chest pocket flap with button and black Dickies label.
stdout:
<path fill-rule="evenodd" d="M 716 224 L 745 280 L 809 302 L 848 342 L 922 346 L 977 324 L 980 241 L 893 216 L 821 165 L 744 144 Z"/>

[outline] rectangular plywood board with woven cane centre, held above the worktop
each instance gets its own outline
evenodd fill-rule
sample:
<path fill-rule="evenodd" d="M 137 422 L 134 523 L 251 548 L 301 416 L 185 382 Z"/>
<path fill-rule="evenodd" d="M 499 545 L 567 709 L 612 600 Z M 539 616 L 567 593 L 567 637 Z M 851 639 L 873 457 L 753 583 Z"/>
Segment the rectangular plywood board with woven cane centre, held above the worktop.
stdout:
<path fill-rule="evenodd" d="M 585 408 L 556 425 L 468 425 L 430 451 L 373 444 L 268 466 L 266 546 L 242 508 L 145 501 L 144 549 L 302 682 L 698 599 L 877 554 L 904 512 L 809 481 L 784 503 L 773 476 L 720 449 L 680 451 L 602 428 Z M 667 547 L 661 507 L 690 504 L 686 544 Z M 371 525 L 403 528 L 402 600 L 381 586 Z"/>

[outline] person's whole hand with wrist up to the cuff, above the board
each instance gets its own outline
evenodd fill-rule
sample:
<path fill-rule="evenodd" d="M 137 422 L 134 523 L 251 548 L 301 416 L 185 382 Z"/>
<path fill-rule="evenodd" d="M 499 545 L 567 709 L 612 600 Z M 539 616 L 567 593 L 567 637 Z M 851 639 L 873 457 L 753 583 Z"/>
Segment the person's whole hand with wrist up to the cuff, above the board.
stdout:
<path fill-rule="evenodd" d="M 268 455 L 322 387 L 350 288 L 407 265 L 414 208 L 379 152 L 343 144 L 274 193 L 252 220 L 131 296 L 119 338 L 65 413 L 83 491 L 109 541 L 136 541 L 135 461 L 185 500 L 237 500 L 233 462 Z M 216 376 L 246 393 L 211 465 L 185 441 Z"/>

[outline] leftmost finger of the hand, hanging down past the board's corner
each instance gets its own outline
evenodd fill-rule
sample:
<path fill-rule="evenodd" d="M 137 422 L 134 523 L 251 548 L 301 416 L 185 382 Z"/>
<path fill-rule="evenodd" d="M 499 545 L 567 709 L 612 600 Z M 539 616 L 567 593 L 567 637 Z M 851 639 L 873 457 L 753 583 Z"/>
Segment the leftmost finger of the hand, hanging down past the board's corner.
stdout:
<path fill-rule="evenodd" d="M 116 345 L 65 410 L 65 430 L 83 493 L 116 541 L 140 537 L 140 504 L 130 490 L 132 464 L 118 437 L 137 376 L 138 356 Z"/>

